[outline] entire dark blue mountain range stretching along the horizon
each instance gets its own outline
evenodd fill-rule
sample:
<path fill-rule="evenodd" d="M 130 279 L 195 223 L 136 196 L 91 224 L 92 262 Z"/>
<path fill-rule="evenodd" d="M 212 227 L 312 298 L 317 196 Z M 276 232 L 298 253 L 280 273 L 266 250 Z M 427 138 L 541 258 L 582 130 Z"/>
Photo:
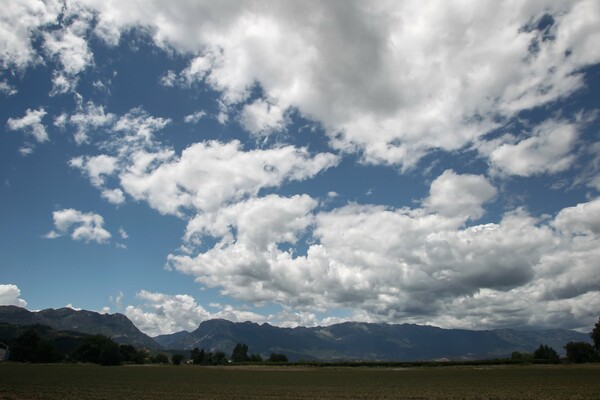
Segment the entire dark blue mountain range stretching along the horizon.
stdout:
<path fill-rule="evenodd" d="M 588 334 L 565 330 L 463 330 L 414 324 L 345 322 L 326 327 L 280 328 L 267 323 L 204 321 L 193 332 L 181 331 L 155 338 L 142 333 L 123 314 L 99 314 L 71 308 L 31 312 L 0 306 L 0 323 L 41 324 L 56 330 L 111 336 L 122 344 L 169 350 L 224 351 L 237 343 L 250 353 L 283 353 L 290 361 L 416 361 L 474 360 L 507 357 L 513 351 L 533 352 L 540 344 L 559 354 L 569 341 L 590 342 Z M 0 341 L 2 338 L 0 337 Z"/>

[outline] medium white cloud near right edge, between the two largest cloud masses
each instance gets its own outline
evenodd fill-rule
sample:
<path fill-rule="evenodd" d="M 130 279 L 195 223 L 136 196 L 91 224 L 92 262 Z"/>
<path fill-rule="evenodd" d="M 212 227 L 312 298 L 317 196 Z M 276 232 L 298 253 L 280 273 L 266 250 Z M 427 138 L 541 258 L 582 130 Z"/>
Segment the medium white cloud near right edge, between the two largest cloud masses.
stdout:
<path fill-rule="evenodd" d="M 492 165 L 510 175 L 531 176 L 568 169 L 575 155 L 577 124 L 550 120 L 536 126 L 522 140 L 507 136 L 514 143 L 503 143 L 489 155 Z"/>

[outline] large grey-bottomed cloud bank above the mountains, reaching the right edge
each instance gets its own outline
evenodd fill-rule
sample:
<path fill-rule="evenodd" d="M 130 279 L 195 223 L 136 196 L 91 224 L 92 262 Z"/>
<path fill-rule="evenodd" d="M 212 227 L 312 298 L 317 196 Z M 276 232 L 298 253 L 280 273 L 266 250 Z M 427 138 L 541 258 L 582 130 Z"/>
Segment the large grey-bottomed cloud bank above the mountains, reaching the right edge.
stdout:
<path fill-rule="evenodd" d="M 449 206 L 461 192 L 468 213 Z M 495 193 L 481 176 L 446 171 L 412 209 L 319 211 L 308 196 L 251 199 L 192 219 L 185 239 L 214 238 L 214 246 L 172 254 L 168 266 L 224 295 L 292 314 L 351 309 L 352 319 L 370 322 L 585 326 L 600 301 L 592 261 L 597 201 L 552 220 L 517 209 L 498 223 L 464 226 Z M 444 196 L 449 201 L 439 202 Z M 301 235 L 305 253 L 294 246 Z"/>

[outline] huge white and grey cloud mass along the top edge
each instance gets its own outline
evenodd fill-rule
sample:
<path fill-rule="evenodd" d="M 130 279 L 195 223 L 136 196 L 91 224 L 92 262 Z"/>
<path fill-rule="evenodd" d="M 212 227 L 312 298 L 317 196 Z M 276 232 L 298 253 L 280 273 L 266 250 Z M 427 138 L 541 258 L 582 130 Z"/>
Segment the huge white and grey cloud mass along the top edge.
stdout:
<path fill-rule="evenodd" d="M 201 80 L 226 104 L 244 104 L 258 83 L 269 103 L 242 108 L 251 132 L 279 129 L 282 110 L 293 107 L 321 122 L 334 147 L 404 167 L 571 95 L 583 87 L 582 68 L 600 61 L 593 0 L 195 3 L 177 11 L 153 1 L 143 11 L 87 3 L 112 32 L 109 42 L 138 24 L 153 28 L 157 45 L 197 54 L 165 84 Z"/>

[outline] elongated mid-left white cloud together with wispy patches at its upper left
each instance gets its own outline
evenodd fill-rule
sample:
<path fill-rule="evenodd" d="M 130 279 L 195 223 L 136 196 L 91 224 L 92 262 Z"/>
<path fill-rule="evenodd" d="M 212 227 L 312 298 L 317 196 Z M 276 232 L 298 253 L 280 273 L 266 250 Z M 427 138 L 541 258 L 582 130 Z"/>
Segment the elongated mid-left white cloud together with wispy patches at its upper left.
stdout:
<path fill-rule="evenodd" d="M 92 103 L 84 111 L 61 115 L 55 125 L 71 124 L 78 132 L 103 127 L 104 136 L 96 143 L 104 154 L 75 157 L 69 165 L 82 171 L 111 203 L 123 203 L 127 194 L 162 214 L 212 212 L 262 189 L 312 178 L 339 163 L 331 153 L 313 155 L 294 146 L 244 150 L 235 140 L 194 143 L 178 155 L 155 138 L 170 119 L 142 108 L 119 117 Z M 108 187 L 112 177 L 120 187 Z"/>

